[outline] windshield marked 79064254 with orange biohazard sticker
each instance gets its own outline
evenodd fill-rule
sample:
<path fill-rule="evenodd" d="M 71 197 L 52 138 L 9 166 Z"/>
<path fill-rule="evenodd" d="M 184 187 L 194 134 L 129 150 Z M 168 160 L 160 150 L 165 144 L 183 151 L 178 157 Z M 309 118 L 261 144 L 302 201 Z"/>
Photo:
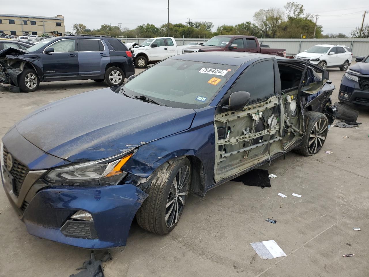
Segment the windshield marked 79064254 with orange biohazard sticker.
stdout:
<path fill-rule="evenodd" d="M 169 107 L 199 109 L 209 105 L 237 68 L 166 59 L 146 69 L 122 88 L 128 95 L 145 96 Z"/>

